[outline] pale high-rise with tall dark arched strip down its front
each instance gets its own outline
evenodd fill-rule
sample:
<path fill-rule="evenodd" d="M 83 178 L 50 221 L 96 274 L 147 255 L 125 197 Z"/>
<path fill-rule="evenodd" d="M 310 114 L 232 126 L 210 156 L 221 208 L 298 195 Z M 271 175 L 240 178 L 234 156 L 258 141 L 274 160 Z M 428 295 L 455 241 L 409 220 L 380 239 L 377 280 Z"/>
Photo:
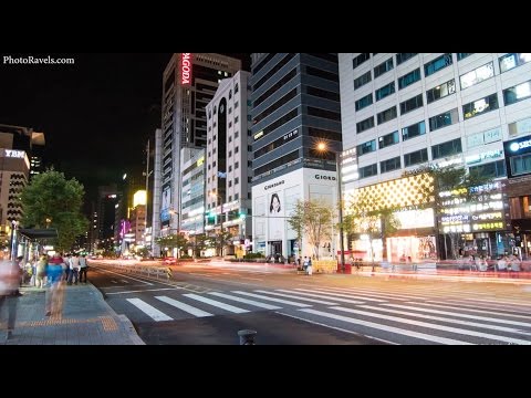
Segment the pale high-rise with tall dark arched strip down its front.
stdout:
<path fill-rule="evenodd" d="M 246 254 L 246 240 L 251 237 L 251 181 L 248 135 L 250 73 L 240 71 L 222 80 L 207 105 L 206 148 L 206 230 L 228 231 L 232 244 L 223 254 Z M 216 213 L 216 216 L 214 214 Z"/>

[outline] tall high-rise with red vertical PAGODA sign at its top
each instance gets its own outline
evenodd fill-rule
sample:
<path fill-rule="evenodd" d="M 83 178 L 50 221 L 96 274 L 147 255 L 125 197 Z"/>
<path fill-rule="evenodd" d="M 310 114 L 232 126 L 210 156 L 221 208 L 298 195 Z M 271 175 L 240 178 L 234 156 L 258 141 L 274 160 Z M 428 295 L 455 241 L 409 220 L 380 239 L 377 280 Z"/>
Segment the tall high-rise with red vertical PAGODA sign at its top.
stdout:
<path fill-rule="evenodd" d="M 210 53 L 176 53 L 163 75 L 162 132 L 156 134 L 154 165 L 153 235 L 178 230 L 181 211 L 181 149 L 206 147 L 205 107 L 218 83 L 233 76 L 241 61 Z M 170 212 L 171 211 L 171 212 Z M 158 248 L 155 248 L 158 254 Z"/>

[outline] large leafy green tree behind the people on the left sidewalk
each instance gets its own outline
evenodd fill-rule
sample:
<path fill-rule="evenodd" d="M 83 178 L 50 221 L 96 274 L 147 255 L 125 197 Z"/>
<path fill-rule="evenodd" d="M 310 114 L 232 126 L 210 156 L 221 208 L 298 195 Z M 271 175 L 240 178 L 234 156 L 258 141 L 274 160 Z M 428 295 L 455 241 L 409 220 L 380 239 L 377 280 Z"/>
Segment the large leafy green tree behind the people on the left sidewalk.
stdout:
<path fill-rule="evenodd" d="M 69 251 L 75 239 L 86 232 L 88 220 L 81 213 L 85 189 L 75 178 L 49 169 L 33 177 L 21 193 L 22 224 L 25 228 L 55 228 L 56 247 Z"/>

